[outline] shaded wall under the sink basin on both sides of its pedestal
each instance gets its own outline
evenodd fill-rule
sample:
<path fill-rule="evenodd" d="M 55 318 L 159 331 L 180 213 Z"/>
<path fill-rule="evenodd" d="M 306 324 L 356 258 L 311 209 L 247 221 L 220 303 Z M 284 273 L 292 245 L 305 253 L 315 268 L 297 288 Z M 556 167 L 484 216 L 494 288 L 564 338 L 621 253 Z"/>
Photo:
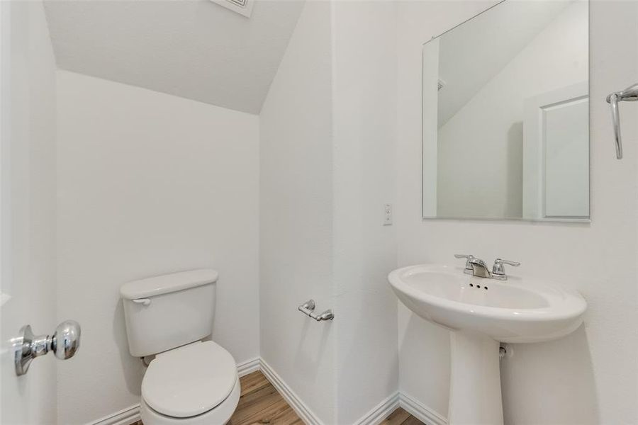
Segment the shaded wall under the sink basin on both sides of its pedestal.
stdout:
<path fill-rule="evenodd" d="M 401 370 L 401 391 L 428 409 L 447 416 L 449 332 L 410 314 L 405 334 L 400 338 L 401 358 L 407 358 L 408 364 L 424 365 Z M 604 423 L 599 417 L 584 325 L 556 341 L 508 346 L 512 356 L 500 362 L 505 424 Z M 436 385 L 423 385 L 423 382 L 436 382 Z"/>

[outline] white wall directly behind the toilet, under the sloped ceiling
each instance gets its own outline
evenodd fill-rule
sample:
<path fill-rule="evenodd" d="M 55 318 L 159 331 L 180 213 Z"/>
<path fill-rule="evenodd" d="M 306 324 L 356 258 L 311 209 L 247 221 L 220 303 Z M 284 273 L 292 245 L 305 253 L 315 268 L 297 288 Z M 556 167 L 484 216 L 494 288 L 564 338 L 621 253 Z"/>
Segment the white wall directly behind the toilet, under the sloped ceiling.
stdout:
<path fill-rule="evenodd" d="M 58 366 L 58 423 L 139 402 L 120 286 L 211 267 L 213 339 L 238 363 L 259 354 L 259 121 L 206 103 L 60 71 L 58 311 L 82 324 Z"/>

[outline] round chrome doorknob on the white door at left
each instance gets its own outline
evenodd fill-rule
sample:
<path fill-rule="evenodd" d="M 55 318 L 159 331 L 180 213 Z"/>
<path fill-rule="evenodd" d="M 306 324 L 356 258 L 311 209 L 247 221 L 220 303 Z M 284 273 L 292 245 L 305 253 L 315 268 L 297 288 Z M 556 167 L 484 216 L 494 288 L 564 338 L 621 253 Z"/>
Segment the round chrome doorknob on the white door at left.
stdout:
<path fill-rule="evenodd" d="M 49 351 L 60 360 L 73 357 L 79 349 L 80 334 L 80 325 L 74 320 L 65 320 L 58 324 L 52 336 L 35 336 L 30 325 L 23 326 L 20 335 L 13 339 L 16 375 L 27 373 L 31 361 Z"/>

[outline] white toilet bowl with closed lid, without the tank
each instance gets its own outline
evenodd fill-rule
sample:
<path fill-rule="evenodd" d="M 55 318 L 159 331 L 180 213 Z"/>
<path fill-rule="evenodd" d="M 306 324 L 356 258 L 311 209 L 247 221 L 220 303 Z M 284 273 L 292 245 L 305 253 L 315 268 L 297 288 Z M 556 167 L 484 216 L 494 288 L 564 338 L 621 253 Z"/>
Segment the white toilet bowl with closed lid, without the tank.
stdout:
<path fill-rule="evenodd" d="M 222 425 L 240 398 L 233 356 L 213 341 L 157 355 L 142 380 L 145 425 Z"/>

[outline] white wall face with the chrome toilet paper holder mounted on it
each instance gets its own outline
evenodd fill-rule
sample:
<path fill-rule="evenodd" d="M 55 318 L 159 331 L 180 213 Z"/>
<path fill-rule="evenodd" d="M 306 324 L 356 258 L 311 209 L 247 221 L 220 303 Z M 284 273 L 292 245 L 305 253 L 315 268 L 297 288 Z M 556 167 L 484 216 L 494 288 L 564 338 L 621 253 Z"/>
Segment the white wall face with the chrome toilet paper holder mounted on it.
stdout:
<path fill-rule="evenodd" d="M 261 356 L 325 424 L 335 423 L 330 3 L 308 1 L 260 115 Z M 338 312 L 337 312 L 338 314 Z"/>

